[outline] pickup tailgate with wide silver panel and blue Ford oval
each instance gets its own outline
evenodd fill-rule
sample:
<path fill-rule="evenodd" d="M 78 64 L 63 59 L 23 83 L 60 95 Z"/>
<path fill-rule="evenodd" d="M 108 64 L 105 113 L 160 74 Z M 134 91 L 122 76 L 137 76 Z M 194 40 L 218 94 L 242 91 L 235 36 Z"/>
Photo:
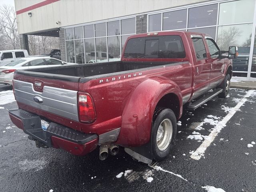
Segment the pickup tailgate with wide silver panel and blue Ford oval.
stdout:
<path fill-rule="evenodd" d="M 19 108 L 26 108 L 32 113 L 42 115 L 46 112 L 48 115 L 44 116 L 56 122 L 64 124 L 66 118 L 69 122 L 74 123 L 73 127 L 80 130 L 77 124 L 78 106 L 77 106 L 77 90 L 78 81 L 70 82 L 60 79 L 38 78 L 27 76 L 24 74 L 15 73 L 13 80 L 14 94 Z M 56 116 L 50 116 L 54 114 Z M 58 118 L 61 117 L 61 118 Z M 54 118 L 54 119 L 53 119 Z M 60 120 L 58 120 L 60 119 Z M 72 127 L 72 126 L 71 126 Z"/>

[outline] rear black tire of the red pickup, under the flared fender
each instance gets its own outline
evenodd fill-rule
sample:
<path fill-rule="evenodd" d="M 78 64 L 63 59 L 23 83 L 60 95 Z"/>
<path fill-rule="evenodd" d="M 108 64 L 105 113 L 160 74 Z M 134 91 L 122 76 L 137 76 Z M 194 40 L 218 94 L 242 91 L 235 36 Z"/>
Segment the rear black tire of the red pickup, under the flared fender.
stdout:
<path fill-rule="evenodd" d="M 168 134 L 168 125 L 171 123 L 172 125 L 172 134 Z M 162 128 L 160 128 L 160 125 Z M 158 134 L 158 128 L 162 129 L 162 139 L 159 140 L 161 135 Z M 172 147 L 174 146 L 174 140 L 177 134 L 177 121 L 174 112 L 168 108 L 156 108 L 153 116 L 153 125 L 152 125 L 152 134 L 151 134 L 151 142 L 152 142 L 152 155 L 153 159 L 156 161 L 162 161 L 166 158 Z M 164 141 L 164 138 L 165 141 Z M 161 145 L 162 144 L 162 145 Z"/>

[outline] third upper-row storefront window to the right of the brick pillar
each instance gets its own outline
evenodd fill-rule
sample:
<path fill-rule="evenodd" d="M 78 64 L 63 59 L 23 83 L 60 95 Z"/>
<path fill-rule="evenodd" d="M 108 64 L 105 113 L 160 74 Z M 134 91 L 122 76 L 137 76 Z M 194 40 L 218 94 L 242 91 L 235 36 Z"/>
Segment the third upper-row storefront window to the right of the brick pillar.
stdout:
<path fill-rule="evenodd" d="M 188 10 L 188 28 L 216 25 L 218 4 Z"/>

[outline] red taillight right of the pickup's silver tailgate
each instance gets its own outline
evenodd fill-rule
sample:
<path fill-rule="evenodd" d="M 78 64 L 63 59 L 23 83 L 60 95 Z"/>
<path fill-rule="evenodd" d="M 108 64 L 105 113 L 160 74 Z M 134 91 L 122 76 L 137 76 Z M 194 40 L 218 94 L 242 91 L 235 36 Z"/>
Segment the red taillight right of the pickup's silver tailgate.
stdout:
<path fill-rule="evenodd" d="M 88 94 L 78 93 L 78 107 L 81 122 L 94 122 L 96 114 L 92 98 Z"/>

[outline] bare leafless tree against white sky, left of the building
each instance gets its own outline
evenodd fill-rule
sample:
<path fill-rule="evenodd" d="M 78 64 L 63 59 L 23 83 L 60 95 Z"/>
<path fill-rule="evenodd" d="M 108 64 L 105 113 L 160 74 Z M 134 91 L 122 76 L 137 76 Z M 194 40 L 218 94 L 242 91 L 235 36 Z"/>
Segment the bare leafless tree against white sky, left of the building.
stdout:
<path fill-rule="evenodd" d="M 13 6 L 5 4 L 0 6 L 0 30 L 2 43 L 5 42 L 6 49 L 20 48 L 20 37 L 17 30 L 17 20 Z"/>

